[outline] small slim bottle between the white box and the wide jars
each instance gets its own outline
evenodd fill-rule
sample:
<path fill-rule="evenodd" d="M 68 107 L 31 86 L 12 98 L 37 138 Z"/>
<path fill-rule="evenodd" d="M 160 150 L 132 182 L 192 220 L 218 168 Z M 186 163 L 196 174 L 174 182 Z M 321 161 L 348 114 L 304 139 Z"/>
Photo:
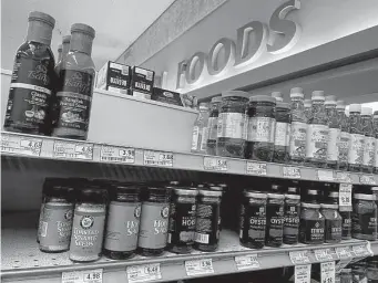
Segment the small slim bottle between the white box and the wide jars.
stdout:
<path fill-rule="evenodd" d="M 193 126 L 192 153 L 206 154 L 208 115 L 207 103 L 200 103 L 200 114 Z"/>

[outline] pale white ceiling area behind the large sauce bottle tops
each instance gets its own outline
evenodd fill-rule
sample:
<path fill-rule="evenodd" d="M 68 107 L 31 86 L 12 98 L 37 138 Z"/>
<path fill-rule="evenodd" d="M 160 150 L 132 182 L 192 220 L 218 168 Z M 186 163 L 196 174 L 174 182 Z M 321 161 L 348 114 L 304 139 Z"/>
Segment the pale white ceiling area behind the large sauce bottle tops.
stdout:
<path fill-rule="evenodd" d="M 1 69 L 11 70 L 14 52 L 28 28 L 28 13 L 37 10 L 55 18 L 52 50 L 72 23 L 96 31 L 92 57 L 99 70 L 115 60 L 174 0 L 1 0 Z"/>

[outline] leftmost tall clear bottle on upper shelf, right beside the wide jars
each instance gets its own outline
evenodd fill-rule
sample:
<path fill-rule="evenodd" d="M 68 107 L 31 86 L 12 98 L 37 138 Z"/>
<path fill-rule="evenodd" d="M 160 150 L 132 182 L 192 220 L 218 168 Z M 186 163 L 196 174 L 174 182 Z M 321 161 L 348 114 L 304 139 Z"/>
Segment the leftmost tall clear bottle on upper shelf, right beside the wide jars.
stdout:
<path fill-rule="evenodd" d="M 292 129 L 289 156 L 292 164 L 303 164 L 306 155 L 307 119 L 305 116 L 304 97 L 302 87 L 290 90 Z"/>

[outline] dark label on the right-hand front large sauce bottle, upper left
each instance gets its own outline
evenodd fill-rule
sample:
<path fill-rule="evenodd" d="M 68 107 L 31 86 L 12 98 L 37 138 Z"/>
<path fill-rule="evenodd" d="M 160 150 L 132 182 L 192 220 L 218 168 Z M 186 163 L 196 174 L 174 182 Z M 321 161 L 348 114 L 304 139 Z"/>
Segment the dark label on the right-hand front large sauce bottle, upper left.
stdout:
<path fill-rule="evenodd" d="M 86 132 L 91 112 L 93 74 L 62 70 L 60 77 L 61 85 L 57 93 L 58 127 Z"/>

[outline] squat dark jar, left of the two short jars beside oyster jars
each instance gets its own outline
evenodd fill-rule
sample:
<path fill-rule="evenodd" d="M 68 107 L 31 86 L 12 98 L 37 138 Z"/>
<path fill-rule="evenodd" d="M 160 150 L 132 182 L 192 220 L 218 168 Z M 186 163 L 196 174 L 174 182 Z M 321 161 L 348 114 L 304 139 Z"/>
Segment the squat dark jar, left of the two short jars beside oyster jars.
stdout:
<path fill-rule="evenodd" d="M 303 202 L 300 209 L 299 242 L 308 244 L 324 243 L 325 218 L 320 205 Z"/>

